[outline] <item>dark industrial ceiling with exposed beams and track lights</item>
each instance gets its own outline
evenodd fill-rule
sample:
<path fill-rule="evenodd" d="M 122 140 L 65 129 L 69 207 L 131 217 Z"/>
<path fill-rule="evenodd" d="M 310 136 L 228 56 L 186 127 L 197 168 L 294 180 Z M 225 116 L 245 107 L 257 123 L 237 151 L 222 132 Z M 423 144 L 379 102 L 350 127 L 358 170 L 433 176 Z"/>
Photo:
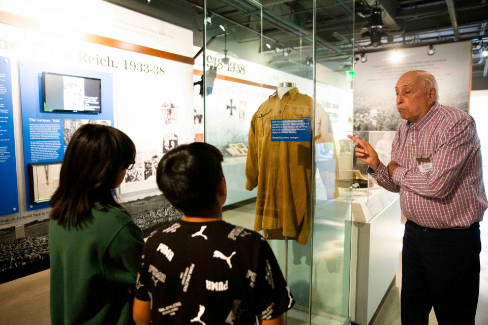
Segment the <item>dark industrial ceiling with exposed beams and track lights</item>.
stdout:
<path fill-rule="evenodd" d="M 110 0 L 132 10 L 192 29 L 194 44 L 203 44 L 202 0 Z M 486 0 L 316 0 L 316 61 L 335 70 L 349 70 L 354 54 L 480 39 L 488 48 Z M 207 0 L 211 17 L 207 42 L 225 26 L 230 55 L 311 77 L 306 61 L 313 56 L 312 0 Z M 381 9 L 380 25 L 370 27 L 372 8 Z M 261 24 L 261 17 L 263 23 Z M 377 23 L 375 23 L 378 25 Z M 380 44 L 370 35 L 380 32 Z M 267 45 L 266 45 L 267 44 Z M 278 45 L 279 50 L 275 51 Z M 221 52 L 222 37 L 210 49 Z M 283 48 L 289 52 L 283 55 Z M 488 88 L 488 59 L 473 47 L 473 88 Z"/>

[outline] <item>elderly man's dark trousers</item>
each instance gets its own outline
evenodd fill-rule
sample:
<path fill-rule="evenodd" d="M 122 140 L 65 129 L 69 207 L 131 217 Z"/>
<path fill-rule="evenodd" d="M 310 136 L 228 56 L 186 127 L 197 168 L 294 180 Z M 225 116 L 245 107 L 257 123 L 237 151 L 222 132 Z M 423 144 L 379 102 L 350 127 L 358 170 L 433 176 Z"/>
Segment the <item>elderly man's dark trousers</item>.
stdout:
<path fill-rule="evenodd" d="M 479 293 L 479 222 L 433 230 L 407 221 L 402 252 L 402 325 L 474 325 Z"/>

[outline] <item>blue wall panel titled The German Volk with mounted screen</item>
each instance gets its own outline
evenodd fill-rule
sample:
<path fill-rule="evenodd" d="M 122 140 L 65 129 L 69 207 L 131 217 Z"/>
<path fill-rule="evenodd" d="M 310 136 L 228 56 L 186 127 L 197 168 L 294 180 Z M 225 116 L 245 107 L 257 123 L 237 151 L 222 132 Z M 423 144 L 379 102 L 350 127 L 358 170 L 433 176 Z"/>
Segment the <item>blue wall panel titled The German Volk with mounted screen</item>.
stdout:
<path fill-rule="evenodd" d="M 44 112 L 42 110 L 41 79 L 43 73 L 100 79 L 102 112 L 100 114 L 86 112 Z M 110 74 L 59 68 L 58 66 L 38 62 L 20 62 L 19 79 L 26 209 L 28 211 L 47 208 L 49 206 L 48 202 L 44 201 L 48 200 L 59 183 L 58 176 L 54 175 L 54 171 L 56 170 L 54 165 L 52 165 L 52 168 L 47 166 L 40 168 L 40 175 L 37 178 L 37 192 L 34 192 L 43 199 L 38 201 L 43 202 L 36 203 L 36 193 L 31 193 L 31 178 L 33 177 L 29 175 L 28 164 L 55 164 L 62 161 L 71 136 L 83 124 L 96 123 L 113 125 L 113 88 L 112 76 Z M 66 85 L 61 83 L 61 85 L 67 89 L 74 87 L 70 83 Z M 64 91 L 63 89 L 61 90 Z M 44 198 L 47 199 L 44 200 Z"/>

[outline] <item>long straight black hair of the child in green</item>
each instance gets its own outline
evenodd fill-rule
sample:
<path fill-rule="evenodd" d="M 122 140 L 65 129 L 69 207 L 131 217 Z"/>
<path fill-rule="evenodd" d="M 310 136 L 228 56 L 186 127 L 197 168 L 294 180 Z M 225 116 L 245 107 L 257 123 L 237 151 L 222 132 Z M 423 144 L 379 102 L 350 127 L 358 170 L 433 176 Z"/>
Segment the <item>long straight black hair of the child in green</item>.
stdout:
<path fill-rule="evenodd" d="M 74 133 L 49 206 L 59 225 L 79 227 L 92 220 L 92 209 L 120 208 L 112 189 L 121 171 L 135 162 L 132 140 L 116 128 L 85 124 Z"/>

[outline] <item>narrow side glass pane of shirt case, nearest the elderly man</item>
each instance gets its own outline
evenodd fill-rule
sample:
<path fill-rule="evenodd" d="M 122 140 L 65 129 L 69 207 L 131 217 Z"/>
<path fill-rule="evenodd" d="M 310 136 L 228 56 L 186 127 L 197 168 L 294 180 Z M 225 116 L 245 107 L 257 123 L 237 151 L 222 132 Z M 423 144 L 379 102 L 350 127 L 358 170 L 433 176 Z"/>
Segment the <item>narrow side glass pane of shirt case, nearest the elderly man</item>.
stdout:
<path fill-rule="evenodd" d="M 354 2 L 316 1 L 312 323 L 349 317 Z"/>

